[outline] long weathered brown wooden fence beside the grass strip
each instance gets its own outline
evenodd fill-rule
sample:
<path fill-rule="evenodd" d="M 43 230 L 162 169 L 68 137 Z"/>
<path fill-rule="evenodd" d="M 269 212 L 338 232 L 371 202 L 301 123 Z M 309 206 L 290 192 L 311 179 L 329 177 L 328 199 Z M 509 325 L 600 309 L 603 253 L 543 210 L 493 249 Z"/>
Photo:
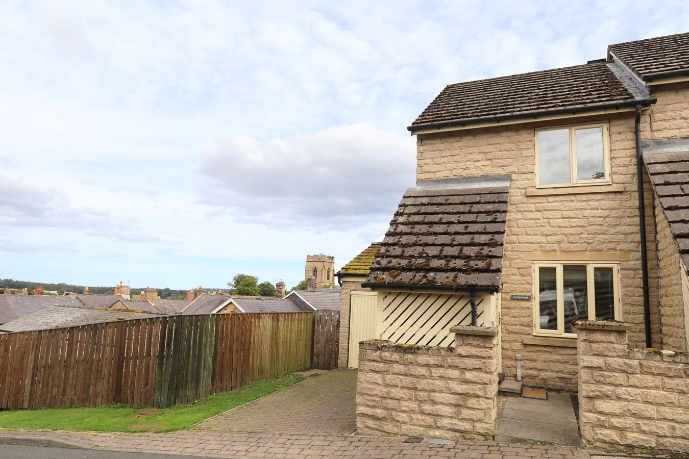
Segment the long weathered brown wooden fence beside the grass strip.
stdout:
<path fill-rule="evenodd" d="M 330 370 L 335 317 L 169 316 L 1 334 L 0 409 L 170 407 L 309 367 Z"/>

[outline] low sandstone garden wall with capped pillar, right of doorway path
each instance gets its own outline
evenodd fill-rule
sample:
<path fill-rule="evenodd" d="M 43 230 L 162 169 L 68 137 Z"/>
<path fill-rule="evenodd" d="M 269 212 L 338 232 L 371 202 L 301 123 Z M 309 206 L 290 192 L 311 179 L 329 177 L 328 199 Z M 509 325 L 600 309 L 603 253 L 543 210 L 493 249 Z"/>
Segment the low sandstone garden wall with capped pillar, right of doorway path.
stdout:
<path fill-rule="evenodd" d="M 579 323 L 579 426 L 586 447 L 689 449 L 689 354 L 628 348 L 628 324 Z"/>

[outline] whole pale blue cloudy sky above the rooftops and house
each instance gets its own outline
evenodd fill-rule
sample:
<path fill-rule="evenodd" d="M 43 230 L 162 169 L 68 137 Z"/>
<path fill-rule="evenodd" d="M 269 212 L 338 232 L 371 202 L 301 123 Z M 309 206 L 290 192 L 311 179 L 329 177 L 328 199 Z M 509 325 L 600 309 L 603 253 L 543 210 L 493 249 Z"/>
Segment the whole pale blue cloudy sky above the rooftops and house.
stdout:
<path fill-rule="evenodd" d="M 3 1 L 0 278 L 287 287 L 384 236 L 448 84 L 688 32 L 648 1 Z"/>

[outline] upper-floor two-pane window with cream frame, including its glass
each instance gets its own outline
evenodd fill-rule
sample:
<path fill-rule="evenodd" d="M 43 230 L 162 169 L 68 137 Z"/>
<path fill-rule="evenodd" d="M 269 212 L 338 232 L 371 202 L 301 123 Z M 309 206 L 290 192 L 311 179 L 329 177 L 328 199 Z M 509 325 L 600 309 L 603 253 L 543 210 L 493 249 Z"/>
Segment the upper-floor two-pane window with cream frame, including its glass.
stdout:
<path fill-rule="evenodd" d="M 535 141 L 539 188 L 611 183 L 607 124 L 537 129 Z"/>

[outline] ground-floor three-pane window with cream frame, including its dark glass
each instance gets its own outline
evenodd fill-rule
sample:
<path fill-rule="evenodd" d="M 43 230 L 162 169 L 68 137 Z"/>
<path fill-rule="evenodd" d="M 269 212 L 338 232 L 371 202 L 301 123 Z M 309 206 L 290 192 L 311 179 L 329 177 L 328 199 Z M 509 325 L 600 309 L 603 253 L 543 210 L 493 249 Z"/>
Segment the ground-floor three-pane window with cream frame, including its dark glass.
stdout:
<path fill-rule="evenodd" d="M 534 334 L 575 337 L 577 319 L 619 320 L 619 265 L 535 263 Z"/>

